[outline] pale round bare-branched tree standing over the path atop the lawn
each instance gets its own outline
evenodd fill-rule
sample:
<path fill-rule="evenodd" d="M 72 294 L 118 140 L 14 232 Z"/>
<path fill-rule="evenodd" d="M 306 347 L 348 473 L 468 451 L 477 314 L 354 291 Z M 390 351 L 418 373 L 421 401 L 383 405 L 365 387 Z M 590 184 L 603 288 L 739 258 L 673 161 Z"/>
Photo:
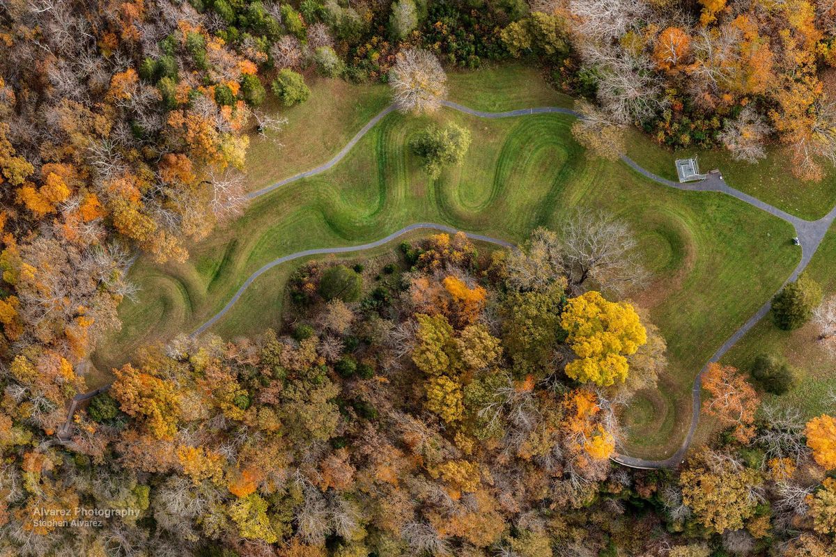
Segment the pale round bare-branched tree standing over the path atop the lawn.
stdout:
<path fill-rule="evenodd" d="M 395 105 L 416 114 L 432 112 L 447 95 L 447 76 L 438 58 L 426 50 L 409 48 L 398 53 L 389 74 Z"/>

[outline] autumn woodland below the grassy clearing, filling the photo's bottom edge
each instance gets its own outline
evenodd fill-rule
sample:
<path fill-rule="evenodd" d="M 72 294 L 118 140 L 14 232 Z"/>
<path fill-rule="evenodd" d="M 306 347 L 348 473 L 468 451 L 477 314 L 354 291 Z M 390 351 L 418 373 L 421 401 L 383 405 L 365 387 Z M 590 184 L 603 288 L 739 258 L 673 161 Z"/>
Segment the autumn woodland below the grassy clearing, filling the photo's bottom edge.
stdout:
<path fill-rule="evenodd" d="M 716 446 L 677 472 L 609 461 L 665 342 L 586 288 L 636 270 L 584 246 L 441 234 L 368 269 L 317 261 L 288 286 L 285 331 L 148 347 L 68 445 L 8 429 L 7 554 L 832 555 L 836 421 L 756 419 L 731 367 L 706 374 Z M 56 527 L 37 510 L 76 506 L 130 514 Z"/>

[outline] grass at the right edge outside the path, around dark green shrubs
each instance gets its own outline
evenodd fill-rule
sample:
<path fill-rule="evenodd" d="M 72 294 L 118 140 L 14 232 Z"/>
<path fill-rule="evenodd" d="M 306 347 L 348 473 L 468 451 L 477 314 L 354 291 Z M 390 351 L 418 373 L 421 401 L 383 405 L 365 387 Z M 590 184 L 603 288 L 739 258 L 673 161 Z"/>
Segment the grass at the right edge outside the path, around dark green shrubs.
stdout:
<path fill-rule="evenodd" d="M 836 225 L 828 231 L 807 268 L 808 275 L 822 285 L 824 296 L 836 294 L 834 270 Z M 806 417 L 833 412 L 833 403 L 828 406 L 826 398 L 828 392 L 836 392 L 836 360 L 818 345 L 817 337 L 818 333 L 811 324 L 786 332 L 775 327 L 771 316 L 767 316 L 726 354 L 723 362 L 749 372 L 758 354 L 782 355 L 798 372 L 798 384 L 780 397 L 766 394 L 764 400 L 798 408 Z"/>

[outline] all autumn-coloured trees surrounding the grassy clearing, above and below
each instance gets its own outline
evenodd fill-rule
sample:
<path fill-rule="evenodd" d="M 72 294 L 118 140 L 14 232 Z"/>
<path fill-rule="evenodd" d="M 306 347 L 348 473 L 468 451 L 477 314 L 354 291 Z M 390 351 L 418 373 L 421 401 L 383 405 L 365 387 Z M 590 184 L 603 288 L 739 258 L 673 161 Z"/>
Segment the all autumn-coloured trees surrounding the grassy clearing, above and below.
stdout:
<path fill-rule="evenodd" d="M 760 405 L 782 362 L 757 389 L 710 368 L 726 429 L 679 470 L 610 462 L 665 341 L 626 301 L 643 271 L 607 215 L 522 251 L 437 235 L 380 269 L 304 266 L 283 330 L 146 347 L 56 437 L 130 262 L 185 261 L 244 209 L 249 138 L 283 123 L 268 91 L 304 102 L 318 73 L 426 110 L 443 68 L 523 58 L 583 99 L 595 152 L 635 124 L 750 162 L 785 149 L 821 180 L 834 25 L 806 0 L 0 2 L 0 554 L 836 554 L 836 419 Z M 413 147 L 436 177 L 469 142 Z M 788 286 L 776 322 L 836 338 L 817 288 Z M 132 512 L 38 522 L 76 507 Z"/>

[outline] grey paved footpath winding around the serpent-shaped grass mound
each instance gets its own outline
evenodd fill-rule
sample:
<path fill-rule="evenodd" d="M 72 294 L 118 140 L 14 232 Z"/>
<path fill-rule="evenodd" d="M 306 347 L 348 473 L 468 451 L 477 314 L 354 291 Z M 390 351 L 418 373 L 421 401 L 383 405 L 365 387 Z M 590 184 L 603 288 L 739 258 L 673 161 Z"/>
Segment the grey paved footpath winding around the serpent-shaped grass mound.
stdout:
<path fill-rule="evenodd" d="M 575 112 L 572 109 L 564 109 L 561 107 L 539 107 L 533 109 L 517 109 L 517 110 L 509 110 L 507 112 L 484 112 L 482 110 L 475 110 L 463 106 L 461 104 L 456 104 L 451 101 L 442 101 L 442 104 L 447 108 L 458 110 L 460 112 L 471 114 L 472 116 L 477 116 L 479 118 L 488 118 L 488 119 L 497 119 L 497 118 L 510 118 L 516 116 L 526 116 L 528 114 L 549 114 L 549 113 L 558 113 L 558 114 L 568 114 L 574 116 L 576 118 L 580 118 L 580 114 Z M 262 190 L 253 191 L 252 193 L 247 195 L 247 199 L 254 199 L 264 194 L 268 194 L 273 190 L 277 190 L 278 188 L 282 187 L 283 185 L 287 185 L 291 182 L 296 180 L 301 180 L 303 178 L 307 178 L 308 176 L 318 175 L 326 170 L 331 169 L 334 165 L 337 165 L 340 160 L 343 160 L 346 154 L 349 154 L 349 151 L 354 148 L 354 145 L 363 138 L 365 134 L 372 129 L 375 124 L 380 122 L 381 119 L 384 119 L 387 114 L 393 112 L 395 110 L 394 105 L 390 105 L 383 109 L 380 114 L 377 114 L 373 119 L 363 126 L 359 132 L 354 135 L 354 137 L 349 141 L 348 144 L 344 146 L 343 149 L 339 151 L 334 158 L 329 160 L 324 165 L 320 165 L 312 170 L 308 170 L 301 174 L 291 176 L 285 180 L 281 180 L 276 182 L 273 185 L 268 185 L 266 188 Z M 687 190 L 687 191 L 712 191 L 712 192 L 719 192 L 726 195 L 731 195 L 732 197 L 737 198 L 738 200 L 742 200 L 744 203 L 757 207 L 757 209 L 764 210 L 770 215 L 777 216 L 777 218 L 785 220 L 796 230 L 796 235 L 798 236 L 799 243 L 801 245 L 802 256 L 801 261 L 799 261 L 798 266 L 796 266 L 793 274 L 790 275 L 787 281 L 784 282 L 786 284 L 789 281 L 794 281 L 798 278 L 798 276 L 804 271 L 804 269 L 808 266 L 808 263 L 811 259 L 813 259 L 813 254 L 818 249 L 818 245 L 824 238 L 824 235 L 827 234 L 830 225 L 833 223 L 833 220 L 836 219 L 836 207 L 833 207 L 832 210 L 827 215 L 824 215 L 821 219 L 818 220 L 803 220 L 797 216 L 790 215 L 786 211 L 780 210 L 777 207 L 769 205 L 762 200 L 758 200 L 756 197 L 752 197 L 752 195 L 748 195 L 743 193 L 740 190 L 735 190 L 731 186 L 727 185 L 726 182 L 722 179 L 721 175 L 711 174 L 708 175 L 706 180 L 701 180 L 699 182 L 691 182 L 687 184 L 680 184 L 679 182 L 674 182 L 671 180 L 667 180 L 662 178 L 659 175 L 655 175 L 654 173 L 650 172 L 650 170 L 645 170 L 640 165 L 638 165 L 634 160 L 631 160 L 627 156 L 622 156 L 621 160 L 624 161 L 624 164 L 630 166 L 633 170 L 638 172 L 640 175 L 644 175 L 646 178 L 653 180 L 657 184 L 669 186 L 675 188 L 677 190 Z M 301 257 L 306 256 L 319 256 L 319 255 L 328 255 L 334 253 L 350 253 L 354 251 L 363 251 L 369 250 L 371 248 L 383 246 L 386 243 L 395 240 L 400 235 L 404 235 L 407 232 L 412 230 L 421 230 L 421 229 L 432 229 L 432 230 L 443 230 L 446 232 L 456 232 L 455 228 L 448 226 L 448 225 L 440 225 L 435 223 L 417 223 L 414 225 L 405 226 L 396 232 L 386 236 L 385 238 L 381 238 L 378 241 L 373 241 L 368 244 L 363 244 L 361 246 L 344 246 L 344 247 L 333 247 L 333 248 L 319 248 L 314 250 L 305 250 L 305 251 L 298 251 L 297 253 L 290 254 L 288 256 L 279 257 L 273 261 L 270 261 L 267 265 L 263 266 L 258 271 L 255 271 L 247 277 L 247 280 L 244 281 L 242 286 L 238 289 L 232 299 L 227 302 L 226 306 L 223 306 L 221 311 L 218 311 L 215 316 L 212 316 L 209 321 L 203 323 L 200 327 L 196 329 L 192 335 L 198 335 L 202 332 L 205 332 L 206 329 L 212 327 L 222 316 L 224 316 L 230 308 L 235 305 L 235 302 L 242 296 L 244 291 L 252 285 L 252 282 L 255 281 L 259 276 L 262 276 L 265 272 L 272 269 L 274 266 L 281 265 L 287 261 L 293 261 L 295 259 L 299 259 Z M 492 238 L 486 235 L 479 235 L 479 234 L 470 234 L 466 233 L 469 238 L 473 240 L 479 241 L 487 241 L 492 244 L 497 244 L 498 246 L 506 246 L 512 247 L 510 242 L 500 240 L 497 238 Z M 782 286 L 783 287 L 783 286 Z M 711 362 L 717 362 L 723 357 L 728 350 L 734 346 L 734 344 L 739 341 L 743 335 L 745 335 L 752 327 L 755 326 L 757 322 L 759 322 L 763 316 L 766 316 L 769 308 L 771 307 L 771 301 L 767 301 L 761 308 L 757 311 L 755 315 L 753 315 L 749 321 L 743 324 L 733 335 L 729 337 L 729 339 L 717 349 L 714 355 L 711 357 Z M 706 367 L 708 367 L 708 363 L 706 363 Z M 692 403 L 691 403 L 691 427 L 688 429 L 688 433 L 686 434 L 686 438 L 683 439 L 682 444 L 679 449 L 671 456 L 670 458 L 665 458 L 664 460 L 647 460 L 645 458 L 634 458 L 622 454 L 617 454 L 613 457 L 613 460 L 617 463 L 624 464 L 624 466 L 630 466 L 631 468 L 676 468 L 681 463 L 682 459 L 685 456 L 686 451 L 691 446 L 691 440 L 694 437 L 694 433 L 696 432 L 697 424 L 700 420 L 700 408 L 701 408 L 701 385 L 702 385 L 702 373 L 706 371 L 706 367 L 703 367 L 700 373 L 697 374 L 694 380 L 694 386 L 691 389 L 692 394 Z M 75 409 L 77 408 L 78 404 L 83 402 L 84 400 L 93 397 L 94 395 L 98 394 L 99 392 L 106 391 L 110 385 L 105 385 L 104 387 L 99 387 L 98 389 L 86 392 L 84 394 L 77 395 L 73 398 L 72 402 L 69 406 L 69 415 L 67 417 L 67 423 L 59 429 L 59 440 L 63 442 L 69 442 L 69 435 L 72 430 L 72 419 Z"/>

